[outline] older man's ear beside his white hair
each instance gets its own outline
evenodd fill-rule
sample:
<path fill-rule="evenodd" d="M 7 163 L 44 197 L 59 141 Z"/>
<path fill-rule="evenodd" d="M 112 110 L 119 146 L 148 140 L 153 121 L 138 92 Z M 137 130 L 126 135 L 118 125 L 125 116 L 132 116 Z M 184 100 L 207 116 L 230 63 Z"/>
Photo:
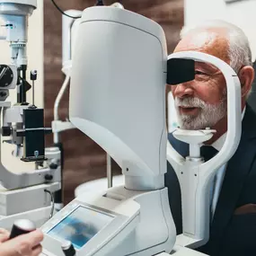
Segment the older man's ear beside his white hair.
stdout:
<path fill-rule="evenodd" d="M 250 92 L 254 79 L 254 73 L 255 72 L 252 66 L 243 66 L 240 69 L 238 77 L 241 83 L 242 97 L 246 96 Z"/>

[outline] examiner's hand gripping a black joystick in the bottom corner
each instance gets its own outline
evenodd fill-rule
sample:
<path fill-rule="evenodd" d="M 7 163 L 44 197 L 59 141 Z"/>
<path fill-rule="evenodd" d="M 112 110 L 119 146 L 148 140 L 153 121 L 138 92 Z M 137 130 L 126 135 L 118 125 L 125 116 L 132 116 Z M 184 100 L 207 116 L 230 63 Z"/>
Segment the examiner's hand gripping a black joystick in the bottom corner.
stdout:
<path fill-rule="evenodd" d="M 8 238 L 9 233 L 0 229 L 1 256 L 38 256 L 42 251 L 40 242 L 43 240 L 43 234 L 40 230 L 19 235 L 11 240 Z"/>

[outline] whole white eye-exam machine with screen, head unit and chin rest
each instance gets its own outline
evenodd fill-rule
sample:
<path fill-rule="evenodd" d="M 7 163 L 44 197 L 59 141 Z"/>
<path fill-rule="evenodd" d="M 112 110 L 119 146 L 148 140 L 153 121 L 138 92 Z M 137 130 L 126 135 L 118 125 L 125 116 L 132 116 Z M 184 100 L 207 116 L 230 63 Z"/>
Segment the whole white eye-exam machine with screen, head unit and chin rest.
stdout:
<path fill-rule="evenodd" d="M 193 80 L 194 61 L 217 66 L 227 84 L 225 145 L 207 163 L 199 147 L 214 130 L 177 129 L 174 136 L 190 144 L 184 159 L 167 143 L 165 128 L 165 84 Z M 43 254 L 200 255 L 188 248 L 207 243 L 210 182 L 241 136 L 241 91 L 234 70 L 198 52 L 168 57 L 157 23 L 127 10 L 95 6 L 84 10 L 79 25 L 70 86 L 71 122 L 119 163 L 125 184 L 81 195 L 51 217 L 41 226 Z M 181 183 L 179 236 L 164 188 L 166 155 Z"/>

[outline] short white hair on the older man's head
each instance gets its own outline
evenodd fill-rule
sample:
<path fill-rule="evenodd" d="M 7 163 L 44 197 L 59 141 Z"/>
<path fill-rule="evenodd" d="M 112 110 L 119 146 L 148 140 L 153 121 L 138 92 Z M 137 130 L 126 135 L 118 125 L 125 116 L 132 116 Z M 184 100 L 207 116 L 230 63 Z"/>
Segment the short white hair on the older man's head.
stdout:
<path fill-rule="evenodd" d="M 232 23 L 220 20 L 206 21 L 195 27 L 184 27 L 181 30 L 181 39 L 192 31 L 202 29 L 225 29 L 227 32 L 227 40 L 229 43 L 230 66 L 236 73 L 242 66 L 252 66 L 252 51 L 249 40 L 244 32 Z"/>

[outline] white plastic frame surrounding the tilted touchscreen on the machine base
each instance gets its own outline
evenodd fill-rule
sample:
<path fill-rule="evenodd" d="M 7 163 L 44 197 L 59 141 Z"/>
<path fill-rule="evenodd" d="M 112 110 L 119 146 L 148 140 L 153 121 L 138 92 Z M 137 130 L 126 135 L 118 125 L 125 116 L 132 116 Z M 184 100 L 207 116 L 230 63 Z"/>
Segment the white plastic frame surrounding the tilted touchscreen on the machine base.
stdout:
<path fill-rule="evenodd" d="M 84 202 L 79 199 L 74 199 L 72 202 L 66 205 L 66 207 L 62 208 L 56 215 L 54 215 L 49 221 L 41 226 L 41 231 L 45 234 L 44 240 L 42 242 L 42 246 L 48 252 L 53 253 L 57 256 L 62 256 L 63 252 L 61 250 L 61 242 L 57 240 L 55 237 L 48 234 L 49 230 L 56 226 L 60 221 L 62 221 L 66 216 L 71 214 L 77 207 L 88 207 L 89 209 L 99 211 L 100 213 L 107 214 L 110 216 L 114 216 L 112 221 L 102 228 L 93 238 L 85 243 L 83 247 L 79 250 L 76 250 L 79 253 L 95 253 L 102 248 L 106 248 L 105 245 L 110 242 L 110 240 L 114 239 L 117 234 L 123 231 L 125 227 L 128 226 L 126 232 L 130 232 L 135 228 L 135 225 L 138 221 L 139 216 L 139 206 L 133 200 L 126 201 L 125 207 L 119 207 L 120 202 L 113 199 L 107 199 L 102 196 L 101 202 L 98 205 L 92 205 L 96 200 L 91 199 L 90 202 Z M 98 200 L 99 202 L 100 200 Z M 104 205 L 112 202 L 111 209 L 104 208 Z M 112 211 L 115 209 L 115 211 Z M 105 250 L 105 249 L 104 249 Z"/>

